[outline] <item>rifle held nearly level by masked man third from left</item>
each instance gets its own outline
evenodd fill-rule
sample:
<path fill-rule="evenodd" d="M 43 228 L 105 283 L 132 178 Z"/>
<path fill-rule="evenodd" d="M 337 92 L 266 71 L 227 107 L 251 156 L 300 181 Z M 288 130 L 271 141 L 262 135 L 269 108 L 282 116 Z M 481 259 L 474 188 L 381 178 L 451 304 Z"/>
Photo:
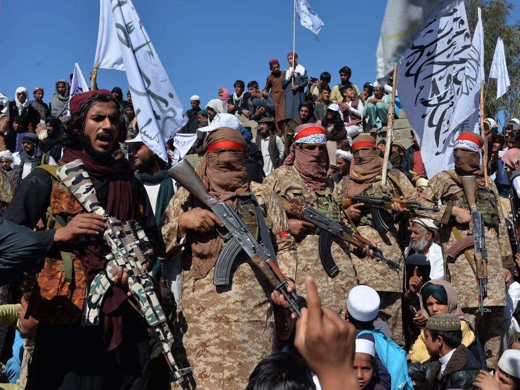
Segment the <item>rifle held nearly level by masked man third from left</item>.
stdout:
<path fill-rule="evenodd" d="M 356 203 L 364 203 L 363 207 L 370 209 L 372 214 L 372 220 L 375 228 L 381 232 L 386 233 L 388 231 L 388 225 L 386 225 L 381 210 L 391 210 L 393 203 L 402 204 L 408 210 L 424 210 L 424 211 L 439 211 L 438 207 L 424 207 L 418 201 L 411 201 L 392 197 L 368 197 L 365 195 L 356 195 L 352 198 L 345 198 L 342 200 L 342 206 L 344 209 L 348 206 L 352 206 Z"/>

